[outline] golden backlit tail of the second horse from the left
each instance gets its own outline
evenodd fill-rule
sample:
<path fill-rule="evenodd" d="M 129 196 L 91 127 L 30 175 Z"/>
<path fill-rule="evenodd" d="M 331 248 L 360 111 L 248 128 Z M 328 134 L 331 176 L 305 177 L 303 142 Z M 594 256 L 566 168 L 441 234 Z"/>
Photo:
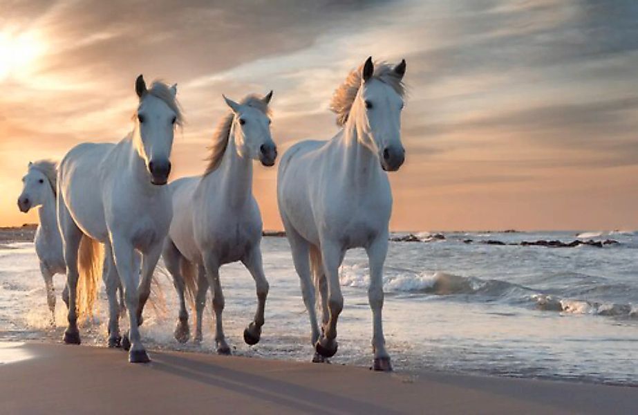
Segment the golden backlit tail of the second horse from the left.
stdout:
<path fill-rule="evenodd" d="M 102 264 L 104 263 L 104 248 L 95 239 L 82 235 L 79 241 L 77 255 L 76 305 L 80 320 L 93 317 L 97 291 L 102 279 Z"/>

